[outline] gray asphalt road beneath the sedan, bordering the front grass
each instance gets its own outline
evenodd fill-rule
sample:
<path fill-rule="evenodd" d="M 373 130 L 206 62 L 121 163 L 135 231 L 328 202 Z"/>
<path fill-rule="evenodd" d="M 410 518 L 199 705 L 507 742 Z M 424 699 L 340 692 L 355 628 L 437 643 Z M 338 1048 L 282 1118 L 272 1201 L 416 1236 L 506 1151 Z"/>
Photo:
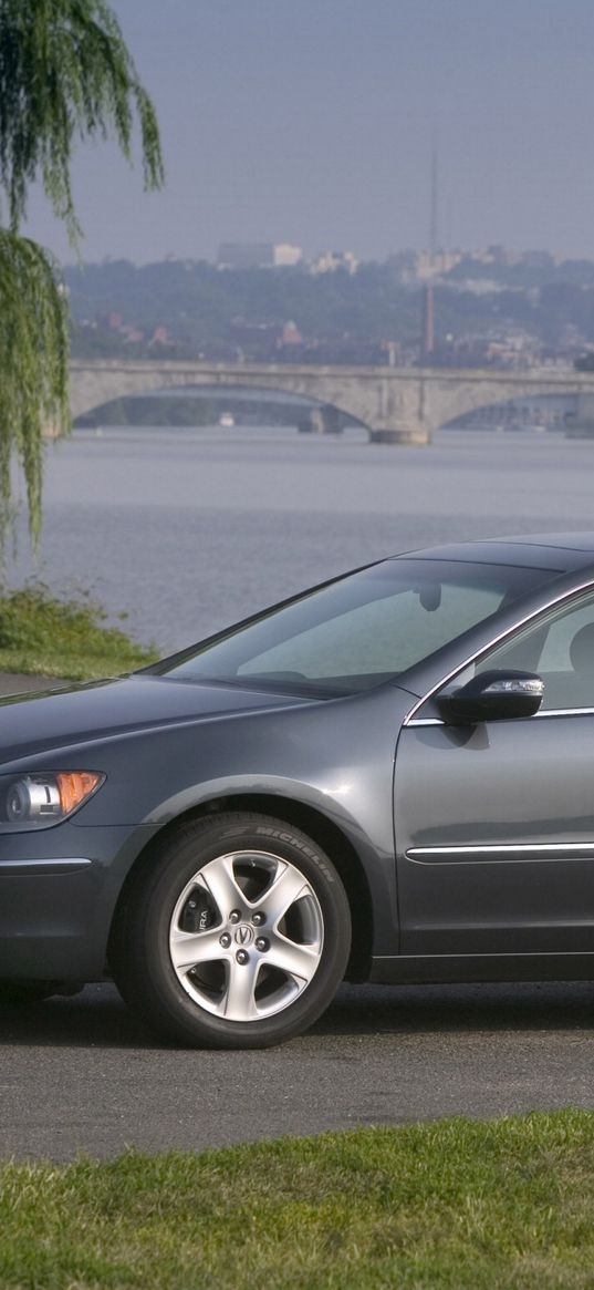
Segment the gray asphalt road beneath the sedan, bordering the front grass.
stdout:
<path fill-rule="evenodd" d="M 594 984 L 344 987 L 262 1053 L 155 1042 L 110 986 L 0 1009 L 0 1157 L 202 1149 L 445 1115 L 594 1108 Z"/>

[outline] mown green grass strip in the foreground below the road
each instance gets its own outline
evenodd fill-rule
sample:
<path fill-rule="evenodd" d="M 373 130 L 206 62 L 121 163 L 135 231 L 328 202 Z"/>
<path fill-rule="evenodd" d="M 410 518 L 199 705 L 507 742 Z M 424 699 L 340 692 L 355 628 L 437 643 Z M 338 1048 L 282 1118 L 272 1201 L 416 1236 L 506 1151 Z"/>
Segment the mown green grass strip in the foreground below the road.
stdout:
<path fill-rule="evenodd" d="M 591 1287 L 594 1113 L 4 1164 L 0 1285 Z"/>

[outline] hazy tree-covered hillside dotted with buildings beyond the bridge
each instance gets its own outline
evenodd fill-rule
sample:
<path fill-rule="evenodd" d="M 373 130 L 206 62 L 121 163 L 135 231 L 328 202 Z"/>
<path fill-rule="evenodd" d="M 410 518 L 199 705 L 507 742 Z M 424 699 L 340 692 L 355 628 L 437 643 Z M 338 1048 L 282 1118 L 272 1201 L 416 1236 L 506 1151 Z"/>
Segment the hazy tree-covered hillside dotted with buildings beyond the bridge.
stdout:
<path fill-rule="evenodd" d="M 443 342 L 448 333 L 459 341 L 484 339 L 519 326 L 544 346 L 564 352 L 571 326 L 586 342 L 594 342 L 594 262 L 584 266 L 567 261 L 531 271 L 518 266 L 508 286 L 512 270 L 487 267 L 499 285 L 484 294 L 466 290 L 464 279 L 452 290 L 454 271 L 447 279 L 450 285 L 436 286 L 438 341 Z M 478 268 L 469 270 L 468 276 L 478 277 Z M 353 275 L 338 271 L 316 276 L 300 267 L 222 272 L 191 261 L 142 266 L 112 261 L 70 267 L 64 276 L 76 320 L 72 353 L 80 359 L 196 359 L 202 348 L 227 346 L 222 359 L 237 357 L 241 348 L 246 360 L 271 361 L 278 355 L 276 334 L 269 329 L 287 320 L 296 322 L 311 346 L 307 353 L 292 355 L 299 362 L 335 361 L 325 357 L 325 343 L 344 338 L 359 344 L 363 356 L 370 343 L 381 341 L 396 341 L 411 353 L 419 350 L 423 292 L 419 285 L 403 285 L 389 262 L 363 264 Z M 532 285 L 535 276 L 537 283 Z M 94 325 L 112 311 L 142 330 L 144 339 L 130 343 L 125 335 Z M 241 325 L 244 321 L 249 328 Z M 157 326 L 169 329 L 175 341 L 171 347 L 151 344 Z M 321 348 L 316 347 L 318 341 Z M 344 361 L 357 361 L 348 350 L 345 353 Z M 206 357 L 216 355 L 207 352 Z M 463 356 L 461 365 L 465 361 Z"/>

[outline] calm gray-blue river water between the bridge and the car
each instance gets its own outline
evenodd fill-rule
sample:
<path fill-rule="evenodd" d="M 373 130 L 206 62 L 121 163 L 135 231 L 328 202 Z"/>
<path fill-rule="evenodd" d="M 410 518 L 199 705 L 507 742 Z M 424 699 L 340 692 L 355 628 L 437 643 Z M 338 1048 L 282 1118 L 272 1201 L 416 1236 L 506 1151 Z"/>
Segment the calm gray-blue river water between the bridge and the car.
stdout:
<path fill-rule="evenodd" d="M 41 557 L 10 583 L 88 590 L 175 649 L 367 560 L 457 538 L 594 529 L 594 442 L 443 431 L 432 448 L 290 428 L 110 428 L 48 446 Z"/>

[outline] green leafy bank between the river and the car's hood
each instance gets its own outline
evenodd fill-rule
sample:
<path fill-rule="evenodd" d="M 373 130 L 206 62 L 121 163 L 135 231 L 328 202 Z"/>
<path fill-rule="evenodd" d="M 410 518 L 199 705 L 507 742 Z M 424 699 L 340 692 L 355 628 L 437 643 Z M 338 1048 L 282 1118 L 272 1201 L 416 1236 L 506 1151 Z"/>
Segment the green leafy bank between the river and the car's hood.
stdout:
<path fill-rule="evenodd" d="M 153 662 L 155 650 L 106 627 L 90 597 L 61 599 L 44 583 L 0 593 L 0 672 L 86 681 Z"/>

